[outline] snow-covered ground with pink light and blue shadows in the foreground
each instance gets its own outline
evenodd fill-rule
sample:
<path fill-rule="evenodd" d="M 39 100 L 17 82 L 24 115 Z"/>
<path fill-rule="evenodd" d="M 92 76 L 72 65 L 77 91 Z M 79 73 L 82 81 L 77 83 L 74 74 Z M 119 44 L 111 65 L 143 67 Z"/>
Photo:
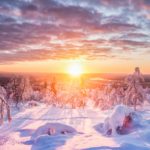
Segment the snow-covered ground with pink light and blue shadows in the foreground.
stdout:
<path fill-rule="evenodd" d="M 12 110 L 0 126 L 0 150 L 149 150 L 150 106 L 138 111 L 140 126 L 126 135 L 105 136 L 97 127 L 113 110 L 56 108 L 38 104 Z"/>

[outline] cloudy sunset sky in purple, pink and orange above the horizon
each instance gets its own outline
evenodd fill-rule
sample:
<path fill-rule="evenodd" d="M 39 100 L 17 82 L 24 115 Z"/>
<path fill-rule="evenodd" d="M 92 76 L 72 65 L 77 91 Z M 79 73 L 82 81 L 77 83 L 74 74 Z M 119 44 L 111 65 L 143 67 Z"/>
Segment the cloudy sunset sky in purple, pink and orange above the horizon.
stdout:
<path fill-rule="evenodd" d="M 150 73 L 150 0 L 0 0 L 0 71 Z"/>

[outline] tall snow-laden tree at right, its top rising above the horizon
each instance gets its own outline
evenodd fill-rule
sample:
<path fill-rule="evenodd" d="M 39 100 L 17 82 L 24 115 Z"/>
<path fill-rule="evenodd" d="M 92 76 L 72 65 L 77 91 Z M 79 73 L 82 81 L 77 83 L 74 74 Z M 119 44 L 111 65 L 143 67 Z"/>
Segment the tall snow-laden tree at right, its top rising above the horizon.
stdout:
<path fill-rule="evenodd" d="M 135 72 L 132 75 L 127 76 L 125 82 L 127 84 L 125 104 L 134 105 L 134 109 L 136 110 L 137 103 L 143 102 L 145 97 L 142 86 L 144 83 L 144 77 L 140 72 L 140 68 L 136 67 Z"/>

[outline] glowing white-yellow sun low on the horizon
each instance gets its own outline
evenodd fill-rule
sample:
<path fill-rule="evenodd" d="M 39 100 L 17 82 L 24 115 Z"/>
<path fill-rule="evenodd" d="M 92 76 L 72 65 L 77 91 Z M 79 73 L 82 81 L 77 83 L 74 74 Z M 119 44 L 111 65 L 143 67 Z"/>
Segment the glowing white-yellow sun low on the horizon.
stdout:
<path fill-rule="evenodd" d="M 80 63 L 73 63 L 68 68 L 68 73 L 71 76 L 77 77 L 83 74 L 83 69 Z"/>

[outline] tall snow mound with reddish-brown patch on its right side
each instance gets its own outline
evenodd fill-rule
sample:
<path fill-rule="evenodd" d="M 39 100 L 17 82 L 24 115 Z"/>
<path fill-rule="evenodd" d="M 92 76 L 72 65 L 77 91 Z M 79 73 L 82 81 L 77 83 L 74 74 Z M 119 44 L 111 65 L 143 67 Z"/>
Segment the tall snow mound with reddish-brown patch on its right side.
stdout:
<path fill-rule="evenodd" d="M 117 105 L 104 123 L 95 126 L 105 135 L 127 134 L 131 129 L 140 126 L 142 116 L 125 105 Z"/>

